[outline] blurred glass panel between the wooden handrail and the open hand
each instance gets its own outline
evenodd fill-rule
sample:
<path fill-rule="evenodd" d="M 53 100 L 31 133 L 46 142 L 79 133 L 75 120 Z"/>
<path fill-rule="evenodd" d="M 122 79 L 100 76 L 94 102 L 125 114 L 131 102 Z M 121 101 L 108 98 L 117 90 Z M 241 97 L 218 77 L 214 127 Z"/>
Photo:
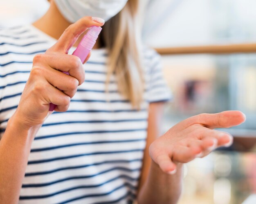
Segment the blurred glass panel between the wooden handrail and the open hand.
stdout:
<path fill-rule="evenodd" d="M 240 110 L 247 120 L 229 132 L 256 136 L 256 54 L 170 55 L 162 61 L 174 94 L 166 128 L 203 112 Z"/>

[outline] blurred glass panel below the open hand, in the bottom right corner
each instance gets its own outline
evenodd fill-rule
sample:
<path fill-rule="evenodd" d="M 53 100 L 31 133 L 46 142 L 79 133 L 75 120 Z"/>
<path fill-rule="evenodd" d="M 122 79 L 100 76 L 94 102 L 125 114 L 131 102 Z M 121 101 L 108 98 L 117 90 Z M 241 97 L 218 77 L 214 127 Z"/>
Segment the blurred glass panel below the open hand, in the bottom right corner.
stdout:
<path fill-rule="evenodd" d="M 178 204 L 241 204 L 256 190 L 256 155 L 222 151 L 185 167 Z"/>

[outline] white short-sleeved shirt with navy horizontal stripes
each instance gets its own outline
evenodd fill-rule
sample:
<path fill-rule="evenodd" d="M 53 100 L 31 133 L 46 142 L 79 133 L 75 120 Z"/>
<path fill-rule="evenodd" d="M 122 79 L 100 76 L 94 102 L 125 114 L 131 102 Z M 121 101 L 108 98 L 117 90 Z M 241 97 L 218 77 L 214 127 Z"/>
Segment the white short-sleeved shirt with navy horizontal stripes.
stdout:
<path fill-rule="evenodd" d="M 0 136 L 15 112 L 34 55 L 56 39 L 34 26 L 0 30 Z M 72 47 L 70 52 L 74 51 Z M 148 105 L 170 99 L 159 55 L 145 48 L 141 110 L 117 91 L 105 92 L 106 49 L 92 50 L 85 82 L 66 112 L 53 112 L 31 146 L 20 203 L 131 203 L 141 173 Z"/>

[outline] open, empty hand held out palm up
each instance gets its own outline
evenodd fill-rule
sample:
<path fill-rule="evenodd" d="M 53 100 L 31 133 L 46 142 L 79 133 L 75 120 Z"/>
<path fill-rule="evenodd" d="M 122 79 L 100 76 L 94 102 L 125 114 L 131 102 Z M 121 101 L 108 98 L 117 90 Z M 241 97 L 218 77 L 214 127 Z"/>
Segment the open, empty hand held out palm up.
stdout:
<path fill-rule="evenodd" d="M 150 156 L 164 172 L 175 173 L 177 163 L 207 156 L 216 147 L 232 144 L 229 133 L 214 128 L 229 128 L 244 121 L 245 115 L 240 111 L 193 116 L 157 138 L 150 145 Z"/>

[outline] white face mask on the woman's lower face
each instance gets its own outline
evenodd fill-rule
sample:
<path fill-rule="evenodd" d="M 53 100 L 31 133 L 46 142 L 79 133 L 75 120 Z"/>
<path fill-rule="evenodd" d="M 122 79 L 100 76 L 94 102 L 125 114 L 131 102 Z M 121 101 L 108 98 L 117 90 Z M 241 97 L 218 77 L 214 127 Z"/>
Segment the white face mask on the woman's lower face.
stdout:
<path fill-rule="evenodd" d="M 84 16 L 103 18 L 105 21 L 115 16 L 128 0 L 54 0 L 61 14 L 74 23 Z"/>

